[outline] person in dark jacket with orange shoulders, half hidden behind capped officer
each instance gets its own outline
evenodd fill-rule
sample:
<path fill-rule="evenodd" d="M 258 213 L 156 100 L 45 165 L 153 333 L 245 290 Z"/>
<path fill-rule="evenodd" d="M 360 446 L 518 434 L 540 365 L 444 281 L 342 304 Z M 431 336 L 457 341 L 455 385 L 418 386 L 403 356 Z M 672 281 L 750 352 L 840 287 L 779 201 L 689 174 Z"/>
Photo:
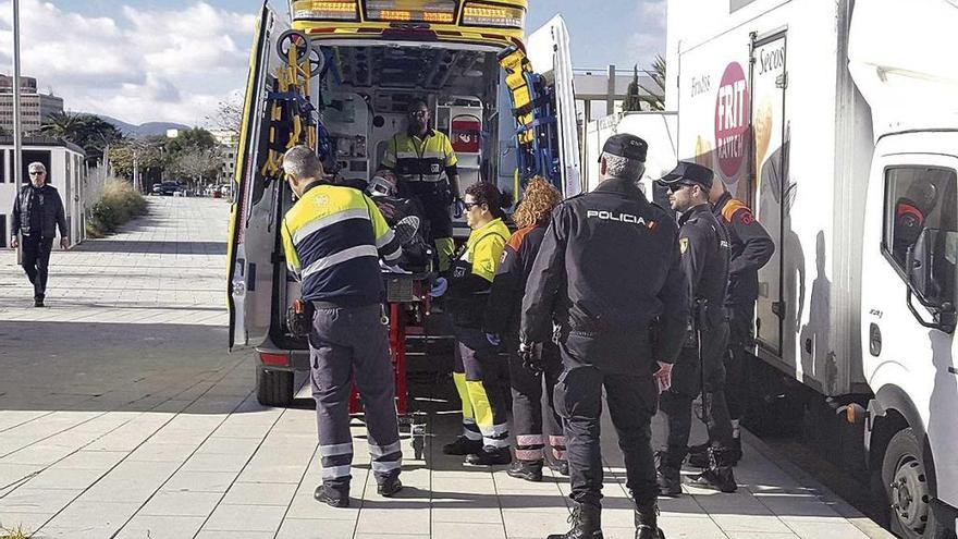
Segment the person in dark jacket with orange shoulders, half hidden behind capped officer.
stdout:
<path fill-rule="evenodd" d="M 739 419 L 745 412 L 745 357 L 754 339 L 756 299 L 759 298 L 759 269 L 775 253 L 775 243 L 756 220 L 745 203 L 732 197 L 721 181 L 712 183 L 709 201 L 715 218 L 725 225 L 732 243 L 725 314 L 728 317 L 728 351 L 725 354 L 725 397 L 732 418 L 732 460 L 741 458 Z M 690 449 L 689 463 L 708 466 L 708 445 Z"/>

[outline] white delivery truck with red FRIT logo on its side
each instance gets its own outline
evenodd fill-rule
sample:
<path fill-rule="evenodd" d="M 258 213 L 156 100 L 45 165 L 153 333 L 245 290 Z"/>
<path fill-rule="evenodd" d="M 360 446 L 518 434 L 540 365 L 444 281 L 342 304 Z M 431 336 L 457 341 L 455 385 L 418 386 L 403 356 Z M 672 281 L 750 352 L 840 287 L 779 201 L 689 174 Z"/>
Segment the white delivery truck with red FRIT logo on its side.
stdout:
<path fill-rule="evenodd" d="M 776 245 L 752 422 L 805 421 L 907 538 L 954 537 L 958 518 L 956 28 L 955 0 L 667 12 L 676 157 L 712 168 Z"/>

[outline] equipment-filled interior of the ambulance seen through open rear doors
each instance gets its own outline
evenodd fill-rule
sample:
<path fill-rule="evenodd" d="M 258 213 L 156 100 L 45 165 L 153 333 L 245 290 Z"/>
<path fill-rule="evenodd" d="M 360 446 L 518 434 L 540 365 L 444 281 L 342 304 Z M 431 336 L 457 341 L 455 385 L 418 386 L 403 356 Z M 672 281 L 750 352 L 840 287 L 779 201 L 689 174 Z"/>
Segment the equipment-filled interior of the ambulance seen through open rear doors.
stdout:
<path fill-rule="evenodd" d="M 495 181 L 501 70 L 494 50 L 449 44 L 314 42 L 314 48 L 328 59 L 312 99 L 329 133 L 326 164 L 329 169 L 335 161 L 337 177 L 351 185 L 368 182 L 381 168 L 393 135 L 407 128 L 408 107 L 418 98 L 432 112 L 432 127 L 450 137 L 458 158 L 459 189 L 480 179 Z M 512 122 L 508 114 L 506 121 Z M 292 194 L 286 191 L 284 206 L 290 207 Z M 468 235 L 463 219 L 454 218 L 454 225 L 456 236 Z M 285 268 L 277 269 L 285 273 Z M 299 283 L 292 275 L 285 282 L 279 304 L 288 307 L 299 297 Z M 286 333 L 285 323 L 283 329 Z"/>

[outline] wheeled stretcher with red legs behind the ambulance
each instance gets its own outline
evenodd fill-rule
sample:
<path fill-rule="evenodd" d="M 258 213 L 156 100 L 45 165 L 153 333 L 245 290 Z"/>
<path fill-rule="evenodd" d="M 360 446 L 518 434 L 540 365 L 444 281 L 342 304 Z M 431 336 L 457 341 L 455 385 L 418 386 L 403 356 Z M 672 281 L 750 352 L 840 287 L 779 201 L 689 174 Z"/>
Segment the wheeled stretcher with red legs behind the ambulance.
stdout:
<path fill-rule="evenodd" d="M 386 289 L 386 311 L 389 318 L 390 359 L 396 383 L 396 413 L 400 425 L 408 427 L 413 438 L 415 458 L 422 458 L 426 446 L 426 414 L 410 406 L 406 380 L 406 336 L 422 334 L 423 321 L 430 307 L 431 273 L 395 273 L 383 271 Z M 361 414 L 363 401 L 356 385 L 349 395 L 349 414 Z"/>

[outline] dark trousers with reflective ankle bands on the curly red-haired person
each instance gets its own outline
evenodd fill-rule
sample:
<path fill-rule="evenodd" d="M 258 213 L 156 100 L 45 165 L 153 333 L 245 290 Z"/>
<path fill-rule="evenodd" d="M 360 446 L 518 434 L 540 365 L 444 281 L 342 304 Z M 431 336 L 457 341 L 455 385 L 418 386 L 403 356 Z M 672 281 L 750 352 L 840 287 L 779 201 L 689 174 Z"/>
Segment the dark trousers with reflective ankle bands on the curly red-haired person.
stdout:
<path fill-rule="evenodd" d="M 516 437 L 516 460 L 543 461 L 545 445 L 552 446 L 552 458 L 565 461 L 565 437 L 562 418 L 553 401 L 555 383 L 562 373 L 562 358 L 553 343 L 542 345 L 542 372 L 532 372 L 523 366 L 519 357 L 519 338 L 509 335 L 509 385 L 513 395 L 513 433 Z M 543 393 L 544 385 L 544 393 Z M 545 395 L 545 407 L 542 396 Z M 544 424 L 544 425 L 543 425 Z M 548 437 L 548 439 L 546 439 Z M 546 444 L 548 441 L 548 444 Z"/>

